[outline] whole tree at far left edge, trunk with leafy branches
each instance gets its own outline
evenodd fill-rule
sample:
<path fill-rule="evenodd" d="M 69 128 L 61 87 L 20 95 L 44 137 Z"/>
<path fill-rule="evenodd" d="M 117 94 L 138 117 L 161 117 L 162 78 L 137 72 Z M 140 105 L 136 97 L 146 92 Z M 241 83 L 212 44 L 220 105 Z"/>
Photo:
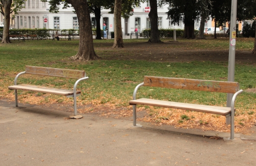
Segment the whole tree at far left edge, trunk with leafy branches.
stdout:
<path fill-rule="evenodd" d="M 11 43 L 10 41 L 10 14 L 13 16 L 23 8 L 24 0 L 0 0 L 0 12 L 4 15 L 4 31 L 2 43 Z"/>

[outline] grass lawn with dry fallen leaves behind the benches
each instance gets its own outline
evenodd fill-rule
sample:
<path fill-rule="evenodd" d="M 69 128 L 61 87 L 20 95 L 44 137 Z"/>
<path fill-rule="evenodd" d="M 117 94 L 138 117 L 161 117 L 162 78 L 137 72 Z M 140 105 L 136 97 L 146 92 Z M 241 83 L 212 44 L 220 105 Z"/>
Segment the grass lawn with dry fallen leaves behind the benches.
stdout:
<path fill-rule="evenodd" d="M 0 98 L 14 100 L 13 85 L 17 73 L 25 65 L 52 68 L 85 70 L 89 79 L 79 84 L 82 95 L 78 97 L 78 111 L 81 113 L 101 110 L 102 114 L 119 116 L 132 114 L 129 100 L 134 88 L 143 81 L 144 75 L 227 80 L 228 39 L 187 40 L 150 44 L 147 39 L 124 40 L 125 48 L 112 49 L 113 40 L 94 40 L 99 60 L 81 62 L 69 58 L 78 51 L 79 41 L 13 41 L 0 44 Z M 256 88 L 256 60 L 250 54 L 253 39 L 238 38 L 235 81 L 240 89 Z M 22 84 L 73 87 L 75 80 L 65 78 L 22 75 Z M 28 104 L 72 105 L 72 98 L 58 95 L 18 91 L 18 100 Z M 153 98 L 177 102 L 225 106 L 226 94 L 187 90 L 142 87 L 138 98 Z M 244 92 L 236 100 L 236 132 L 253 132 L 250 127 L 256 123 L 256 94 Z M 72 110 L 72 107 L 70 107 Z M 206 130 L 229 131 L 224 116 L 203 114 L 186 110 L 138 106 L 144 113 L 140 120 L 156 124 L 172 124 L 177 127 L 198 127 Z"/>

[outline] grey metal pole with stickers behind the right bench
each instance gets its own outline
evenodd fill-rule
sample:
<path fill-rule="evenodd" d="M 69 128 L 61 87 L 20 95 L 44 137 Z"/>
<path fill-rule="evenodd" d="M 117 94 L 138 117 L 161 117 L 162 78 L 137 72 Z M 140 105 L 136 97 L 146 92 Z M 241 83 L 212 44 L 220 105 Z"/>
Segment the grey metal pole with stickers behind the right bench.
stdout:
<path fill-rule="evenodd" d="M 236 54 L 236 30 L 237 30 L 236 19 L 237 19 L 237 0 L 232 0 L 227 81 L 235 80 L 235 54 Z M 227 107 L 231 106 L 231 100 L 233 95 L 234 94 L 232 93 L 227 94 L 227 99 L 226 99 Z"/>

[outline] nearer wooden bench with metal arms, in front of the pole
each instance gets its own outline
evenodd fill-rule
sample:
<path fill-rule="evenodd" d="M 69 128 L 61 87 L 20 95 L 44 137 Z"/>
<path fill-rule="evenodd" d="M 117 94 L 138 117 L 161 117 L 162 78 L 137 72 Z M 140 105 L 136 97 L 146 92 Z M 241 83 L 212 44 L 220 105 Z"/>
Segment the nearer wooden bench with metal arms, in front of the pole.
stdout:
<path fill-rule="evenodd" d="M 136 93 L 138 89 L 142 86 L 197 90 L 197 91 L 208 91 L 208 92 L 222 92 L 222 93 L 232 93 L 234 95 L 232 98 L 231 107 L 190 104 L 190 103 L 163 101 L 163 100 L 146 99 L 146 98 L 136 99 Z M 133 100 L 129 101 L 130 105 L 133 105 L 133 120 L 134 120 L 133 125 L 136 126 L 136 117 L 137 117 L 136 104 L 194 110 L 197 112 L 211 113 L 211 114 L 218 114 L 218 115 L 225 116 L 226 124 L 231 124 L 231 139 L 233 140 L 234 139 L 234 114 L 236 110 L 235 100 L 237 95 L 239 95 L 242 92 L 243 90 L 239 90 L 238 82 L 145 76 L 144 82 L 142 82 L 135 88 L 133 93 Z"/>

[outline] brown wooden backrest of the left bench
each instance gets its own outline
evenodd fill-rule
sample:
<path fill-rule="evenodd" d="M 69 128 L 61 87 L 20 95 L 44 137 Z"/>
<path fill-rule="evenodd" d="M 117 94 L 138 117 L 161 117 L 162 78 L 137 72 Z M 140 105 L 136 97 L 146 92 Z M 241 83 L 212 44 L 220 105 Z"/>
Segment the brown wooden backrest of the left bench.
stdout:
<path fill-rule="evenodd" d="M 86 76 L 85 71 L 81 70 L 68 70 L 68 69 L 57 69 L 49 67 L 37 67 L 37 66 L 26 66 L 25 73 L 38 74 L 65 78 L 83 78 Z"/>

